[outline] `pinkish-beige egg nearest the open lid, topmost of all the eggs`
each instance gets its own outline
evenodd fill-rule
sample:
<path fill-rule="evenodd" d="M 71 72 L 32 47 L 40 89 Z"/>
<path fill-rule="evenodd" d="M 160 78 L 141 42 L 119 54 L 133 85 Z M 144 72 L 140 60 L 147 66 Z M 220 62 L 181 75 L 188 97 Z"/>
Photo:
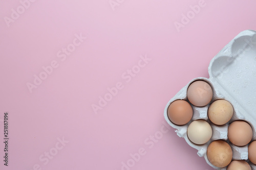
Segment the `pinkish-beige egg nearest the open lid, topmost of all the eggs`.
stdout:
<path fill-rule="evenodd" d="M 204 81 L 195 81 L 187 88 L 187 99 L 195 106 L 206 106 L 212 99 L 212 89 Z"/>

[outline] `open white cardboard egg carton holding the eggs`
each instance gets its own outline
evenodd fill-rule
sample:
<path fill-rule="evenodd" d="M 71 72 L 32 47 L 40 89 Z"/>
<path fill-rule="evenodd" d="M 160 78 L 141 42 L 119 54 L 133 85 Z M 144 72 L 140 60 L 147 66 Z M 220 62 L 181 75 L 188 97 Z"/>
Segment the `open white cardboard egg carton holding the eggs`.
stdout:
<path fill-rule="evenodd" d="M 183 87 L 166 105 L 164 109 L 164 117 L 167 123 L 177 129 L 177 135 L 185 138 L 186 142 L 193 148 L 198 150 L 198 155 L 204 157 L 206 162 L 212 165 L 207 158 L 208 145 L 218 139 L 227 141 L 233 151 L 233 160 L 248 159 L 248 145 L 237 147 L 233 145 L 227 138 L 228 125 L 234 120 L 245 120 L 253 129 L 253 138 L 256 140 L 256 31 L 246 30 L 232 39 L 211 61 L 208 67 L 209 79 L 196 78 L 191 80 Z M 187 88 L 196 81 L 203 80 L 207 82 L 213 90 L 213 98 L 211 102 L 204 107 L 193 107 L 193 117 L 189 123 L 183 126 L 178 126 L 170 122 L 167 109 L 170 103 L 176 100 L 187 100 Z M 224 99 L 230 102 L 234 109 L 234 114 L 231 120 L 223 125 L 217 126 L 210 122 L 207 117 L 207 109 L 210 104 L 216 100 Z M 212 127 L 211 139 L 203 144 L 198 145 L 191 142 L 187 137 L 187 127 L 193 120 L 204 119 Z M 185 152 L 185 151 L 184 151 Z M 251 168 L 256 170 L 256 165 L 249 162 Z"/>

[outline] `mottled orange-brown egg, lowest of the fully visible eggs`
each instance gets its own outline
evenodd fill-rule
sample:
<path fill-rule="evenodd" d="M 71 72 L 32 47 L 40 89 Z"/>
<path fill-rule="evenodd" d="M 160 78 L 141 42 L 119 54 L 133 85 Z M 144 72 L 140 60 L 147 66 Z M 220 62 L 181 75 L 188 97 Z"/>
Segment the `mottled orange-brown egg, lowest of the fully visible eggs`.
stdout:
<path fill-rule="evenodd" d="M 212 165 L 225 167 L 232 160 L 233 152 L 230 145 L 223 140 L 212 141 L 207 148 L 207 158 Z"/>

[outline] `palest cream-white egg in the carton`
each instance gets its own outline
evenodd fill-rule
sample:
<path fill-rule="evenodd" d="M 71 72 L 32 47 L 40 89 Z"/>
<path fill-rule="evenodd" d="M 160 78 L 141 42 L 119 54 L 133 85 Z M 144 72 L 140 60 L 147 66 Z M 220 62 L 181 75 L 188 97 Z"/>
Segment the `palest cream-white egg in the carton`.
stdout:
<path fill-rule="evenodd" d="M 187 137 L 196 144 L 204 144 L 210 140 L 212 129 L 205 120 L 195 120 L 187 128 Z"/>

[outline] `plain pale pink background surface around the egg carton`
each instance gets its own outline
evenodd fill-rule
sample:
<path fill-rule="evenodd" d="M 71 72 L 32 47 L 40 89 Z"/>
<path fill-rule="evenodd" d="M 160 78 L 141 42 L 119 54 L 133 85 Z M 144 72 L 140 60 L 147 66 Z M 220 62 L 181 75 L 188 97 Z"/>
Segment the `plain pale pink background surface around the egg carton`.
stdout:
<path fill-rule="evenodd" d="M 0 2 L 0 119 L 9 112 L 10 138 L 6 167 L 0 120 L 1 169 L 213 169 L 175 129 L 154 145 L 149 137 L 162 134 L 169 99 L 191 79 L 208 78 L 210 60 L 234 36 L 256 30 L 256 2 L 205 0 L 180 32 L 175 21 L 199 1 L 118 2 L 113 10 L 108 0 L 37 0 L 10 27 L 4 17 L 20 2 Z M 61 61 L 57 52 L 75 34 L 87 39 Z M 151 61 L 126 82 L 141 55 Z M 31 93 L 26 84 L 53 60 L 58 67 Z M 123 88 L 95 114 L 92 105 L 118 82 Z M 65 147 L 40 161 L 62 137 Z M 144 155 L 122 168 L 140 148 Z"/>

